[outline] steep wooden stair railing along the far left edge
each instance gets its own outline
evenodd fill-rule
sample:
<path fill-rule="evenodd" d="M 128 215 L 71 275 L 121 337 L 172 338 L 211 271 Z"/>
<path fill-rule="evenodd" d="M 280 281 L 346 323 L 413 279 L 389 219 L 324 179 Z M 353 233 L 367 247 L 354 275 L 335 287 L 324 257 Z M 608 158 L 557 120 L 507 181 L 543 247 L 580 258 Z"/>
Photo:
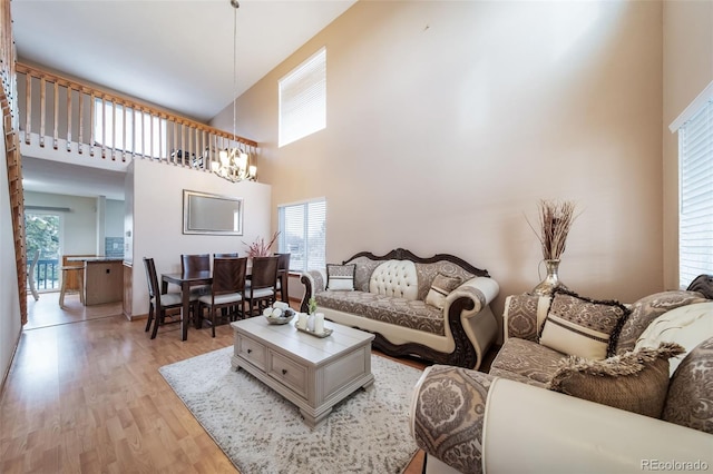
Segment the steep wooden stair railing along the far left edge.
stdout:
<path fill-rule="evenodd" d="M 0 0 L 0 103 L 4 128 L 4 152 L 14 240 L 14 264 L 18 274 L 21 323 L 27 323 L 27 260 L 25 255 L 25 196 L 22 194 L 22 164 L 18 137 L 16 50 L 12 39 L 10 0 Z"/>

